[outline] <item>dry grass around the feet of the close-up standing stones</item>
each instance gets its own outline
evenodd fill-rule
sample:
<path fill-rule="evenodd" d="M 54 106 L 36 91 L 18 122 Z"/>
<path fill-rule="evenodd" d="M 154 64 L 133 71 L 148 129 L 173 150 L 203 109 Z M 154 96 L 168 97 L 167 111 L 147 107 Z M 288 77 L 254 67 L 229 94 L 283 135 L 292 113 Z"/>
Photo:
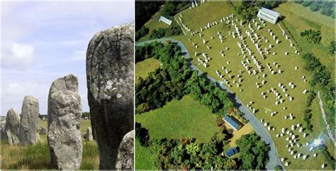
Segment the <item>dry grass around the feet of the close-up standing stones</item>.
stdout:
<path fill-rule="evenodd" d="M 90 126 L 90 120 L 82 120 L 81 132 L 85 133 Z M 40 121 L 40 127 L 47 128 L 47 121 Z M 83 140 L 82 165 L 83 170 L 99 169 L 99 152 L 96 141 Z M 9 170 L 50 170 L 50 151 L 47 145 L 47 135 L 40 135 L 40 143 L 23 147 L 10 146 L 6 140 L 1 141 L 1 169 Z"/>

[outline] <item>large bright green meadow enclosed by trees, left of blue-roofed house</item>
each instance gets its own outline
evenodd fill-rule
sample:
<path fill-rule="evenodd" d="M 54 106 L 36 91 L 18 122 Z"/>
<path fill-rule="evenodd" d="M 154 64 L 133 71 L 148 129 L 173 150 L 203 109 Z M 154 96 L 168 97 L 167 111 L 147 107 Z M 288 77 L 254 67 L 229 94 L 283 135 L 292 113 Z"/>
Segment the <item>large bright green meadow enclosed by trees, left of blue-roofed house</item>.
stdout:
<path fill-rule="evenodd" d="M 172 100 L 161 109 L 137 114 L 135 120 L 149 130 L 150 138 L 196 138 L 198 142 L 208 142 L 220 131 L 215 114 L 189 95 Z"/>

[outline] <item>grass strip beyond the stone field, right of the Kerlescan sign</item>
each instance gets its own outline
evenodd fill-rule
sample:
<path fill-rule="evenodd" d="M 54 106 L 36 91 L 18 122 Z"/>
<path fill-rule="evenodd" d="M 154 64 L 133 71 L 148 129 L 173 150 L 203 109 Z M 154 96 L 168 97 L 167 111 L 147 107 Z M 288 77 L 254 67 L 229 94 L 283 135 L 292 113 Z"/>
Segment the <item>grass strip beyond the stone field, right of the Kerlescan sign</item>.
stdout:
<path fill-rule="evenodd" d="M 335 19 L 330 16 L 324 16 L 319 11 L 310 11 L 308 7 L 303 7 L 301 4 L 287 2 L 281 4 L 275 9 L 285 16 L 284 24 L 289 28 L 291 34 L 304 53 L 314 53 L 323 65 L 327 65 L 335 77 L 335 57 L 328 53 L 327 47 L 330 41 L 335 40 Z M 300 36 L 302 31 L 309 28 L 321 31 L 322 40 L 320 44 L 311 44 L 305 38 Z"/>

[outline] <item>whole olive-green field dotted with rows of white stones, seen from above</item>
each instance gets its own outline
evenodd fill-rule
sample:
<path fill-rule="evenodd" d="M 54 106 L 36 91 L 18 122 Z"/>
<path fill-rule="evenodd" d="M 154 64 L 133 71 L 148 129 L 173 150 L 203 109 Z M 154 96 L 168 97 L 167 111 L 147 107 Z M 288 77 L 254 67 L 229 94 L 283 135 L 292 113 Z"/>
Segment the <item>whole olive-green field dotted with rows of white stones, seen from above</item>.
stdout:
<path fill-rule="evenodd" d="M 291 4 L 281 4 L 279 11 Z M 239 5 L 193 1 L 171 17 L 183 33 L 170 38 L 183 43 L 191 64 L 232 91 L 257 118 L 274 141 L 284 169 L 333 169 L 321 150 L 327 148 L 335 158 L 333 127 L 325 120 L 323 92 L 310 86 L 313 75 L 301 57 L 309 51 L 301 48 L 292 35 L 295 32 L 285 24 L 291 16 L 284 15 L 276 23 L 259 17 L 245 20 L 235 11 Z M 310 101 L 307 126 L 304 113 L 312 96 L 316 98 Z"/>

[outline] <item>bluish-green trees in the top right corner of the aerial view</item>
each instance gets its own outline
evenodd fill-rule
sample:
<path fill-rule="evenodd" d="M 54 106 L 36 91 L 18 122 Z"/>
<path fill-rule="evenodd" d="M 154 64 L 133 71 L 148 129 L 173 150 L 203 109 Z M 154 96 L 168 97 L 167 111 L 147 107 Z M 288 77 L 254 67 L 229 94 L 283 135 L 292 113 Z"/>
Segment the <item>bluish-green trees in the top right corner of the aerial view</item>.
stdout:
<path fill-rule="evenodd" d="M 335 1 L 311 1 L 295 0 L 304 7 L 310 6 L 310 11 L 320 11 L 325 16 L 335 18 Z M 333 10 L 334 9 L 334 10 Z"/>

